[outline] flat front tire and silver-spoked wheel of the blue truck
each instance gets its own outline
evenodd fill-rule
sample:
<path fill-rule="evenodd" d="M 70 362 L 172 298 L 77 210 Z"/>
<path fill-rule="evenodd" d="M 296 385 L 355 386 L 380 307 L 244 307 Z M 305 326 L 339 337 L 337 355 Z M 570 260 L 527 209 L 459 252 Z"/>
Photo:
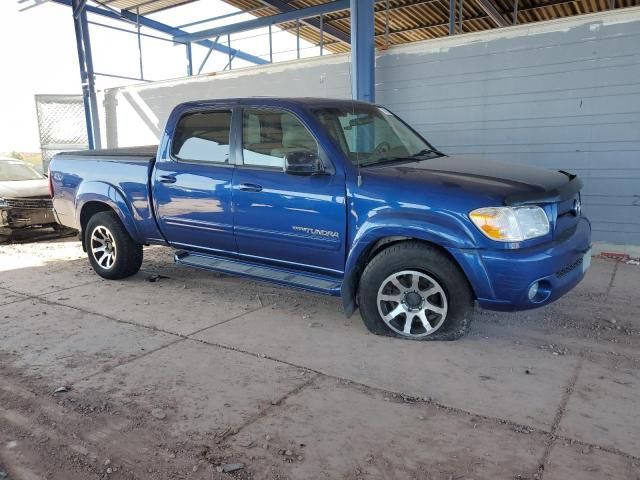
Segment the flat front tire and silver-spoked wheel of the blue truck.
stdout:
<path fill-rule="evenodd" d="M 471 322 L 473 301 L 460 267 L 437 247 L 414 241 L 373 257 L 358 288 L 369 331 L 410 340 L 460 338 Z"/>

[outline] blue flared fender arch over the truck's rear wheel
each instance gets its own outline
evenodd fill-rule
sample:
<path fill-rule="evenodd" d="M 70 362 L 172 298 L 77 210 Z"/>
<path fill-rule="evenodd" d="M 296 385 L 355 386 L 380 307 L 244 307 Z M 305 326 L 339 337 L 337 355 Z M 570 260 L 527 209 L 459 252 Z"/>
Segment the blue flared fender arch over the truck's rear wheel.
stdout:
<path fill-rule="evenodd" d="M 80 214 L 83 207 L 89 202 L 100 202 L 111 207 L 131 238 L 136 242 L 142 242 L 134 221 L 133 209 L 116 187 L 106 182 L 97 181 L 80 185 L 75 199 L 76 225 L 80 226 Z"/>

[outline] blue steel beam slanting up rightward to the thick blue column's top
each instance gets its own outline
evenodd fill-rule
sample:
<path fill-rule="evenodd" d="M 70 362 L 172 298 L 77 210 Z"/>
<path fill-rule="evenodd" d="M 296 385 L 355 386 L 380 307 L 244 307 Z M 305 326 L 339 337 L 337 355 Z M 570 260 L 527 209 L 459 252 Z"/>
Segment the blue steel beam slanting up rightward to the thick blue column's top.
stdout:
<path fill-rule="evenodd" d="M 368 3 L 368 1 L 369 0 L 366 0 L 366 3 Z M 177 42 L 195 42 L 211 37 L 217 37 L 218 35 L 229 35 L 232 33 L 246 32 L 248 30 L 255 30 L 256 28 L 268 27 L 269 25 L 291 22 L 294 20 L 302 20 L 309 17 L 317 17 L 319 15 L 335 12 L 338 10 L 346 10 L 348 8 L 349 0 L 335 0 L 329 3 L 315 5 L 313 7 L 293 9 L 288 12 L 278 13 L 277 15 L 271 15 L 269 17 L 260 17 L 253 20 L 246 20 L 244 22 L 232 23 L 231 25 L 209 28 L 206 30 L 201 30 L 200 32 L 183 32 L 182 34 L 175 35 L 174 40 Z M 327 33 L 326 28 L 325 33 Z"/>

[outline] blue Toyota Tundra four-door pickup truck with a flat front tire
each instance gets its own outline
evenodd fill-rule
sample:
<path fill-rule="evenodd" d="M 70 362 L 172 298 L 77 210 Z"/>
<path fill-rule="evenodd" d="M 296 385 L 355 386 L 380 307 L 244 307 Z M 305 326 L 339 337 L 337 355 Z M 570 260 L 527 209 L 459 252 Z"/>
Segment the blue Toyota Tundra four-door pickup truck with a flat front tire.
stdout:
<path fill-rule="evenodd" d="M 341 296 L 371 332 L 415 340 L 458 338 L 474 301 L 548 304 L 591 259 L 575 175 L 447 156 L 349 100 L 183 103 L 158 147 L 59 154 L 49 179 L 104 278 L 170 245 L 179 264 Z"/>

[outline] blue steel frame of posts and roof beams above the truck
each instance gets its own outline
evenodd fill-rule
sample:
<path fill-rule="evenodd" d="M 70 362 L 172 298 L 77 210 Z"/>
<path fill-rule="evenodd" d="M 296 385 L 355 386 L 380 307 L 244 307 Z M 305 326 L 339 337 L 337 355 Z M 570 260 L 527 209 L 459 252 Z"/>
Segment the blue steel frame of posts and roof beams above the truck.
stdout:
<path fill-rule="evenodd" d="M 76 32 L 76 43 L 78 48 L 78 60 L 80 64 L 80 76 L 83 89 L 83 100 L 85 106 L 85 117 L 87 123 L 87 136 L 89 138 L 89 148 L 100 148 L 100 125 L 98 122 L 98 109 L 95 92 L 95 75 L 93 69 L 93 59 L 91 55 L 91 42 L 89 35 L 89 25 L 87 13 L 104 16 L 107 18 L 122 20 L 144 26 L 164 34 L 170 35 L 176 43 L 183 43 L 186 47 L 187 74 L 193 74 L 193 60 L 191 53 L 192 43 L 195 42 L 209 49 L 208 58 L 211 51 L 226 53 L 229 56 L 229 65 L 234 58 L 249 61 L 258 65 L 269 63 L 265 60 L 249 53 L 231 48 L 230 45 L 218 43 L 218 39 L 211 41 L 210 37 L 220 35 L 230 35 L 254 28 L 271 26 L 275 23 L 296 20 L 320 28 L 320 35 L 324 33 L 352 45 L 352 96 L 357 100 L 375 101 L 375 30 L 374 30 L 374 4 L 375 0 L 334 0 L 325 4 L 296 9 L 283 0 L 264 0 L 265 4 L 271 5 L 282 13 L 270 17 L 257 18 L 239 22 L 233 25 L 208 29 L 201 32 L 188 33 L 181 28 L 172 27 L 162 22 L 152 20 L 143 15 L 126 10 L 115 10 L 106 5 L 101 7 L 87 5 L 87 0 L 51 0 L 52 2 L 72 7 L 74 26 Z M 322 15 L 338 10 L 351 9 L 351 36 L 350 38 L 335 27 L 323 25 Z M 320 17 L 319 20 L 310 17 Z M 134 33 L 134 32 L 132 32 Z M 140 32 L 138 31 L 138 35 Z M 349 41 L 350 40 L 350 41 Z M 321 44 L 323 41 L 321 40 Z M 320 47 L 322 49 L 322 45 Z M 271 50 L 271 48 L 270 48 Z M 270 53 L 270 57 L 271 57 Z M 225 67 L 227 68 L 227 67 Z"/>

